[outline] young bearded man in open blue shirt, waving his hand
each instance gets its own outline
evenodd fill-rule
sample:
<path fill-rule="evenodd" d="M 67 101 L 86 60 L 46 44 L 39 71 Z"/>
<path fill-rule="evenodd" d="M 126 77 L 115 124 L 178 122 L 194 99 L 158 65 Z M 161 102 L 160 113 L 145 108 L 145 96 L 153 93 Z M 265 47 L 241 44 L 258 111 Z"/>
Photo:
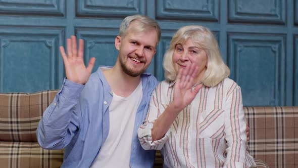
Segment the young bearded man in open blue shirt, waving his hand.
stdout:
<path fill-rule="evenodd" d="M 91 74 L 83 62 L 83 40 L 67 39 L 63 47 L 66 79 L 37 128 L 45 149 L 65 148 L 61 167 L 152 167 L 155 151 L 143 150 L 137 129 L 148 109 L 157 80 L 144 73 L 156 53 L 161 30 L 146 16 L 126 17 L 115 38 L 119 51 L 112 68 Z M 91 74 L 91 75 L 90 75 Z"/>

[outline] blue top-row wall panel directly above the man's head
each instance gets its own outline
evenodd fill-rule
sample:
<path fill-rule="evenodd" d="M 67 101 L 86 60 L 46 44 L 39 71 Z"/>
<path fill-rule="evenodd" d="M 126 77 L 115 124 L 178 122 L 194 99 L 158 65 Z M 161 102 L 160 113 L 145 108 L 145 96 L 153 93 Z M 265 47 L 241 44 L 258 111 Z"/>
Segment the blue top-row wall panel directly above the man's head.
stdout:
<path fill-rule="evenodd" d="M 76 4 L 76 16 L 123 18 L 136 14 L 145 15 L 145 1 L 78 0 Z"/>

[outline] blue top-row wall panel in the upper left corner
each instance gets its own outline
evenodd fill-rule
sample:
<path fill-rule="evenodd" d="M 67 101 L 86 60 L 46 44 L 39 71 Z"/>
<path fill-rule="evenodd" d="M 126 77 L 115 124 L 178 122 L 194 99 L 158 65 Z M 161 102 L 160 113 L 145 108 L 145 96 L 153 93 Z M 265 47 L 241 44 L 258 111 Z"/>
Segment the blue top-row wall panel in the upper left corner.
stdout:
<path fill-rule="evenodd" d="M 1 0 L 0 14 L 65 16 L 65 0 Z"/>

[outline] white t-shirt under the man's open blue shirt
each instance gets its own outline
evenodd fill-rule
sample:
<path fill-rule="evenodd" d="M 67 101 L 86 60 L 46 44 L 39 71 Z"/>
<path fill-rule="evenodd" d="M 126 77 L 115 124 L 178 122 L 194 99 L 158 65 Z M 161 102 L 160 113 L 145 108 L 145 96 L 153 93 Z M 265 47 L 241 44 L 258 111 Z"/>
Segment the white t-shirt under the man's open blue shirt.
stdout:
<path fill-rule="evenodd" d="M 132 134 L 142 97 L 142 81 L 127 98 L 113 94 L 109 135 L 90 167 L 129 167 Z"/>

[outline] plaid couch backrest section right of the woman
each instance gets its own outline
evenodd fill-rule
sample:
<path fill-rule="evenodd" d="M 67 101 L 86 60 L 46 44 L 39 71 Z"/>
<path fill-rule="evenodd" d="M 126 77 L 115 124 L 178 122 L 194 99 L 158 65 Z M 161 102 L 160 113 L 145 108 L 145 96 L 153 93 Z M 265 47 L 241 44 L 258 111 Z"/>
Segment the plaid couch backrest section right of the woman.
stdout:
<path fill-rule="evenodd" d="M 298 107 L 244 107 L 250 153 L 269 167 L 298 166 Z"/>

